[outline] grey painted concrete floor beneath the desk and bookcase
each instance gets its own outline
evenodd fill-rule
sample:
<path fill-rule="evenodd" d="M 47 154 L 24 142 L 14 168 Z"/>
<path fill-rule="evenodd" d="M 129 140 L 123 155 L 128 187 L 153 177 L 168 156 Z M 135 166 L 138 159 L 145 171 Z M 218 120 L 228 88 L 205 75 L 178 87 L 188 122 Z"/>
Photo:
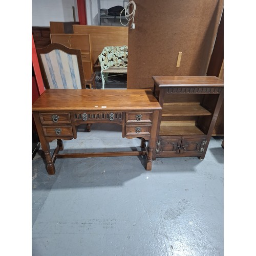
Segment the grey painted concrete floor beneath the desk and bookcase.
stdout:
<path fill-rule="evenodd" d="M 113 125 L 113 124 L 112 124 Z M 32 160 L 32 255 L 223 255 L 223 148 L 212 137 L 204 160 L 143 157 L 57 159 L 49 176 Z M 93 124 L 63 141 L 65 152 L 127 150 L 139 139 Z M 51 152 L 56 141 L 51 144 Z M 139 148 L 139 147 L 138 147 Z"/>

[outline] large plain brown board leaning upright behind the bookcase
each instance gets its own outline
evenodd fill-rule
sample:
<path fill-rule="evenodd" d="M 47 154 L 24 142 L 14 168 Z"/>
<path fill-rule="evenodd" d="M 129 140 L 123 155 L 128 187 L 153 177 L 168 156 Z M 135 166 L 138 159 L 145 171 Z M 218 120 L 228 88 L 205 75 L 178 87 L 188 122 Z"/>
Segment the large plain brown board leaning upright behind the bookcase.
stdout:
<path fill-rule="evenodd" d="M 206 75 L 222 10 L 223 0 L 137 0 L 127 89 L 153 89 L 154 75 Z"/>

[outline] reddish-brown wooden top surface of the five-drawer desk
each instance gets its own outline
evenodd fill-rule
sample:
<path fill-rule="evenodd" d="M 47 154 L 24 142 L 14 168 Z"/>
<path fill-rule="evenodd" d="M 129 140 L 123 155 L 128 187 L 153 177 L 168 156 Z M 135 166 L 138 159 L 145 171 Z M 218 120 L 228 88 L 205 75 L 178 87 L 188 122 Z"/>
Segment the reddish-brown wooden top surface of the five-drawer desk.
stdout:
<path fill-rule="evenodd" d="M 48 89 L 32 111 L 161 110 L 151 90 Z"/>

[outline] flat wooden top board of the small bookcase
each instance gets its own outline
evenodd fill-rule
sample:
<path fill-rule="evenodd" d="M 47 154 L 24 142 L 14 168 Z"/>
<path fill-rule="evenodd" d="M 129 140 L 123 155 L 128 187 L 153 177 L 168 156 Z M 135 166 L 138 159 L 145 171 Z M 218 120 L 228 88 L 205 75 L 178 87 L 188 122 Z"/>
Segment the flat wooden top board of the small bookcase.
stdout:
<path fill-rule="evenodd" d="M 153 76 L 152 78 L 159 87 L 223 87 L 223 80 L 216 76 Z"/>

